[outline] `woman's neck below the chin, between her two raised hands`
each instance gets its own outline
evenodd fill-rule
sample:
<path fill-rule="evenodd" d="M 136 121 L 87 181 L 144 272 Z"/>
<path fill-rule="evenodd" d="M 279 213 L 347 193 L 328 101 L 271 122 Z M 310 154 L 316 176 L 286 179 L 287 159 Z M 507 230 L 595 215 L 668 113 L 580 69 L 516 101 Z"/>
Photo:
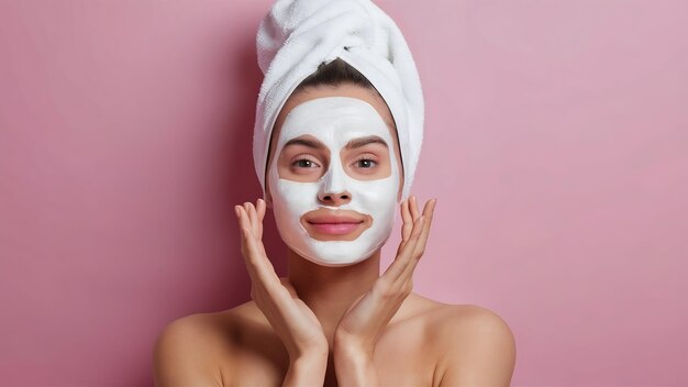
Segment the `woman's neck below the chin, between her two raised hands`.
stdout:
<path fill-rule="evenodd" d="M 288 253 L 288 278 L 299 298 L 315 313 L 328 341 L 346 310 L 365 295 L 380 275 L 380 250 L 357 264 L 329 267 Z"/>

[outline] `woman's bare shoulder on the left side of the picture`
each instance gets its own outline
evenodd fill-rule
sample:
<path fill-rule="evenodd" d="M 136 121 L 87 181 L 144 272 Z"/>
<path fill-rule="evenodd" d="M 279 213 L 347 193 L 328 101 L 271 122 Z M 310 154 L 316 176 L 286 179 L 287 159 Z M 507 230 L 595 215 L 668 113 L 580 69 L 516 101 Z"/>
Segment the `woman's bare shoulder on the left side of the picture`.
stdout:
<path fill-rule="evenodd" d="M 155 386 L 222 386 L 221 360 L 230 358 L 241 327 L 255 320 L 252 301 L 220 312 L 176 319 L 160 331 L 153 350 Z"/>

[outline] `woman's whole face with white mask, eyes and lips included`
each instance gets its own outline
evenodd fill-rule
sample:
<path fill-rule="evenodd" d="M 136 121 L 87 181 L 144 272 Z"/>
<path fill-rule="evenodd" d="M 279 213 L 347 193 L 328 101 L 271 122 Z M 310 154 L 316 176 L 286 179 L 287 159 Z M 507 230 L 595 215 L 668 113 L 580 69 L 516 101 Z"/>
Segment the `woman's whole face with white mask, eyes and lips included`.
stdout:
<path fill-rule="evenodd" d="M 402 187 L 387 106 L 353 85 L 291 96 L 266 175 L 267 201 L 290 248 L 326 266 L 369 257 L 391 232 Z"/>

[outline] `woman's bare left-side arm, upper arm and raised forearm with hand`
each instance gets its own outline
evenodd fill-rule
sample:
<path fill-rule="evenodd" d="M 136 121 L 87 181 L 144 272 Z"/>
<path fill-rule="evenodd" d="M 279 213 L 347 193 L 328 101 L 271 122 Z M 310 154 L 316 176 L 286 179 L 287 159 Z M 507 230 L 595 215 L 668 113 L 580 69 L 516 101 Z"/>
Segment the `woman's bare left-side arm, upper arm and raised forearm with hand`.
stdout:
<path fill-rule="evenodd" d="M 289 352 L 284 386 L 322 385 L 328 365 L 328 342 L 320 322 L 298 299 L 295 289 L 277 277 L 260 241 L 265 203 L 236 209 L 242 232 L 242 255 L 252 278 L 251 296 Z M 211 361 L 217 339 L 209 335 L 200 316 L 169 323 L 154 349 L 154 380 L 163 386 L 222 386 L 219 367 Z"/>

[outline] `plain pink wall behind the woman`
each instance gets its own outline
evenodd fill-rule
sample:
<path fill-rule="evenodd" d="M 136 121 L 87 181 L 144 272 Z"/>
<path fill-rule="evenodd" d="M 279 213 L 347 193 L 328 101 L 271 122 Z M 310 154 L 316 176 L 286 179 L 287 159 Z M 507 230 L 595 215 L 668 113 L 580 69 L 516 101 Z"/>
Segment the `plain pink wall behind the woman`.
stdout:
<path fill-rule="evenodd" d="M 378 4 L 426 98 L 415 291 L 507 320 L 513 386 L 688 385 L 688 2 Z M 0 385 L 151 385 L 166 323 L 249 299 L 269 5 L 0 1 Z"/>

